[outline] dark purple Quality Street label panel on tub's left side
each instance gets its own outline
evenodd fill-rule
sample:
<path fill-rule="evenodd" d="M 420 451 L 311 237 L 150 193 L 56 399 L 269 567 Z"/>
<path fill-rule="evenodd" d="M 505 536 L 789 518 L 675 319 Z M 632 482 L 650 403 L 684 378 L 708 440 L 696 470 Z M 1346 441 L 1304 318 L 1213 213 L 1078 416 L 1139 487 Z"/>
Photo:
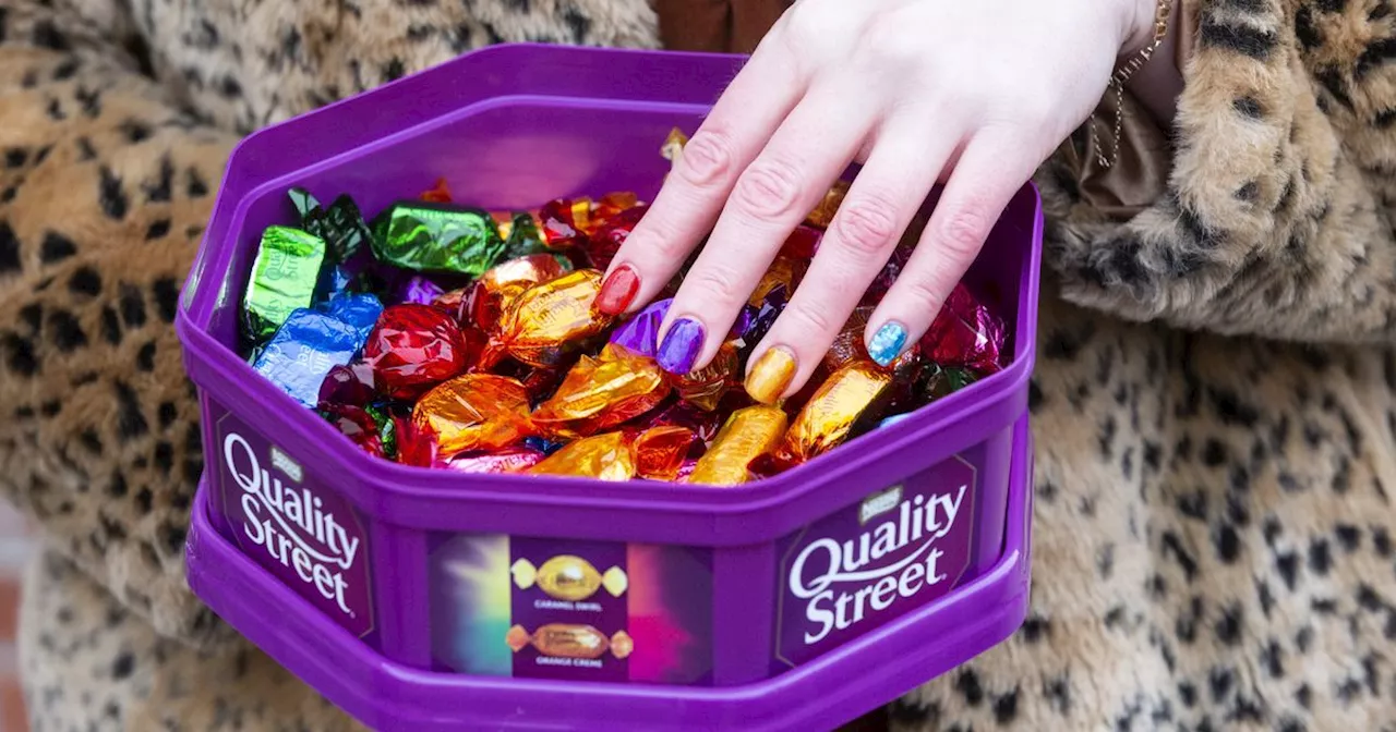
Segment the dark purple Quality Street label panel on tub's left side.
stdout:
<path fill-rule="evenodd" d="M 237 547 L 346 630 L 369 634 L 369 537 L 353 508 L 233 415 L 214 432 L 219 502 Z"/>

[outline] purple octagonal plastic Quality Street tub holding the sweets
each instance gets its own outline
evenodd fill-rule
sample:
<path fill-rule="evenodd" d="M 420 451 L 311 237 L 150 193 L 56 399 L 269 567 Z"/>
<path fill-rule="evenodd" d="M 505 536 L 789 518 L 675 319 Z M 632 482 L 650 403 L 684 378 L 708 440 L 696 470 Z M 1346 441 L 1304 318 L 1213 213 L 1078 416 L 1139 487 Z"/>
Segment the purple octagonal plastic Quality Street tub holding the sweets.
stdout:
<path fill-rule="evenodd" d="M 190 581 L 267 653 L 395 729 L 836 726 L 974 657 L 1027 602 L 1041 211 L 966 283 L 1008 367 L 757 484 L 466 475 L 376 460 L 233 350 L 285 191 L 366 213 L 445 178 L 491 209 L 652 197 L 740 59 L 496 46 L 247 138 L 177 329 L 208 456 Z"/>

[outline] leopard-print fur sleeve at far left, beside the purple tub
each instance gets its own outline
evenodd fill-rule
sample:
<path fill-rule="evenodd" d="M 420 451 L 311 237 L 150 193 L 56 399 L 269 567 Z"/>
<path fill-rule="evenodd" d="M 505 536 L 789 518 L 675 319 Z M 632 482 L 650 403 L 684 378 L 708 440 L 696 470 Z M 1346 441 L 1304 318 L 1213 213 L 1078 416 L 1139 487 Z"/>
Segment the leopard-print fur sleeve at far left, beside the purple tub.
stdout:
<path fill-rule="evenodd" d="M 0 489 L 169 636 L 202 468 L 172 321 L 232 138 L 117 38 L 124 3 L 0 1 Z"/>

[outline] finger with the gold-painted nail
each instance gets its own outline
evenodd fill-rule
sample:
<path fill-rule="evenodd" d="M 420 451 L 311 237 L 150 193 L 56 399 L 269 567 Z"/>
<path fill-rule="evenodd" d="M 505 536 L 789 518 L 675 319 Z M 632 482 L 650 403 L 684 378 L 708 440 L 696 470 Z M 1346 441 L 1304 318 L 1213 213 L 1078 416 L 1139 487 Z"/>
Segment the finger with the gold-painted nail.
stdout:
<path fill-rule="evenodd" d="M 747 392 L 772 403 L 814 372 L 935 184 L 959 135 L 885 130 L 794 297 L 757 346 Z"/>

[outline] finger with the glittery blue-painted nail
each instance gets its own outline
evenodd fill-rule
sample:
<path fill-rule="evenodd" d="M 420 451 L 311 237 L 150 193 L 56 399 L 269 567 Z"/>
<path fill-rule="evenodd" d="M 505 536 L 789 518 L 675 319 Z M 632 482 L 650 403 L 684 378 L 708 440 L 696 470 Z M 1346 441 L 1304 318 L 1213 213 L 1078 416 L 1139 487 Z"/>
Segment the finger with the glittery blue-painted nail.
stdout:
<path fill-rule="evenodd" d="M 965 146 L 916 251 L 868 318 L 864 337 L 874 361 L 891 364 L 931 326 L 1040 162 L 1025 148 L 1009 135 L 984 134 Z"/>

